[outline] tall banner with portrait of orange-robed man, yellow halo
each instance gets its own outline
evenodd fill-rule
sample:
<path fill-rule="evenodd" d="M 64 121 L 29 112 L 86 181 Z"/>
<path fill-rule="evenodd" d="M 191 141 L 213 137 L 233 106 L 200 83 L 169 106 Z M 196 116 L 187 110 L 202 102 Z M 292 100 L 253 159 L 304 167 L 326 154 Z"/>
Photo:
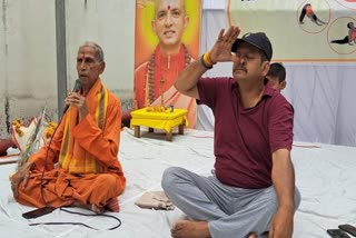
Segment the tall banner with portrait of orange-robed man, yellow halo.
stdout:
<path fill-rule="evenodd" d="M 196 101 L 174 87 L 178 73 L 199 58 L 200 0 L 137 0 L 134 107 L 188 109 L 196 125 Z"/>

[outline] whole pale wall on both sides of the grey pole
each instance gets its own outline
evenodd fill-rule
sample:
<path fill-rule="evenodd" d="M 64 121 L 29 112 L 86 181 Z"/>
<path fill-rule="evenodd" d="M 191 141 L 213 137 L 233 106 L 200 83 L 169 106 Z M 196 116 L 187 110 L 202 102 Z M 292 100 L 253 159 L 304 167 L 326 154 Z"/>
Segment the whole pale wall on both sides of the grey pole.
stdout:
<path fill-rule="evenodd" d="M 67 0 L 68 90 L 77 79 L 78 47 L 105 51 L 105 85 L 130 107 L 134 95 L 135 1 Z M 47 106 L 58 117 L 55 0 L 2 0 L 0 4 L 0 138 L 7 122 L 28 120 Z M 60 109 L 61 110 L 61 109 Z"/>

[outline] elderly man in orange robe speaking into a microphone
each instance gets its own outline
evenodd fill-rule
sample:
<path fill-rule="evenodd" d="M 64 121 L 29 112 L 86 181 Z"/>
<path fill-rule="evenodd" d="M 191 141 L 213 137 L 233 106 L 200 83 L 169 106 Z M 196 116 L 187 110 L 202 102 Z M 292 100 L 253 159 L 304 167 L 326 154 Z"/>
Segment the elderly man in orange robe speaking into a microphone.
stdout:
<path fill-rule="evenodd" d="M 81 89 L 70 92 L 69 107 L 50 145 L 32 155 L 11 177 L 16 200 L 33 207 L 79 206 L 119 211 L 126 178 L 118 160 L 121 106 L 101 82 L 103 52 L 95 42 L 79 48 Z M 43 171 L 44 170 L 44 171 Z"/>

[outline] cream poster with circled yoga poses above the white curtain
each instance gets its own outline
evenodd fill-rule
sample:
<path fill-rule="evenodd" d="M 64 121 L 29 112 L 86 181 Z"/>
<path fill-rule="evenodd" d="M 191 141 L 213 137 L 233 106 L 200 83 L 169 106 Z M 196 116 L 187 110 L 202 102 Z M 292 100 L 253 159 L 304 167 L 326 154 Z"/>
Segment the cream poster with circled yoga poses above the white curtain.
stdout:
<path fill-rule="evenodd" d="M 241 34 L 265 31 L 274 61 L 356 61 L 356 0 L 228 0 Z"/>

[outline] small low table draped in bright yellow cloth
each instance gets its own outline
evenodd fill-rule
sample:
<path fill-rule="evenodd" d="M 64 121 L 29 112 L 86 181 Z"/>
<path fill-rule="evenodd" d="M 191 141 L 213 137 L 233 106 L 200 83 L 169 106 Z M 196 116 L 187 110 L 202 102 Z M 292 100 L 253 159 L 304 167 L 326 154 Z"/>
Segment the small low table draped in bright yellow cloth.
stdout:
<path fill-rule="evenodd" d="M 140 137 L 140 127 L 148 127 L 150 132 L 154 129 L 166 130 L 166 139 L 171 141 L 172 128 L 178 126 L 178 133 L 184 133 L 185 126 L 188 126 L 187 120 L 188 111 L 186 109 L 166 109 L 162 112 L 148 111 L 147 108 L 131 111 L 131 128 L 135 128 L 135 137 Z"/>

